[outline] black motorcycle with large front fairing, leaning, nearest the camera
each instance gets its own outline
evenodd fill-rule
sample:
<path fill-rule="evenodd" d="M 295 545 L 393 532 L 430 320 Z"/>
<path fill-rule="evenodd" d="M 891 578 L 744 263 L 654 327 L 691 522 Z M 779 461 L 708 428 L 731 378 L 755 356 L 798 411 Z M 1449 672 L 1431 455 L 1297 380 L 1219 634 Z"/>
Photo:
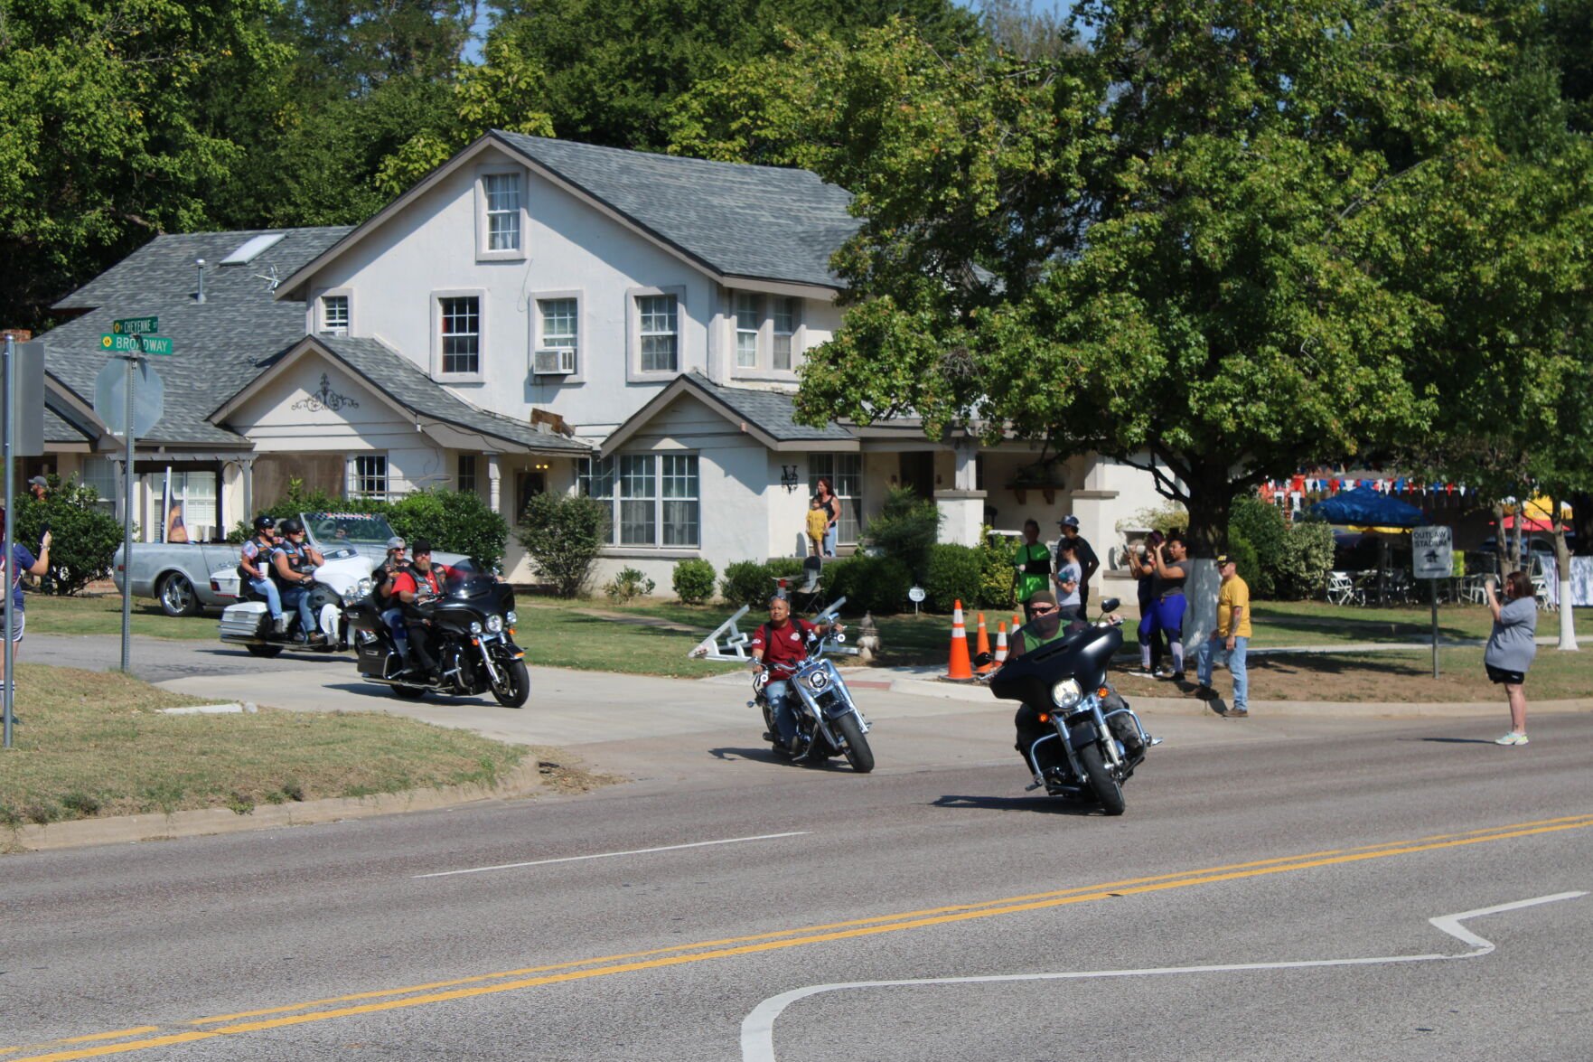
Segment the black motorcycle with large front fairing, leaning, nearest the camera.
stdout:
<path fill-rule="evenodd" d="M 1102 614 L 1118 601 L 1101 603 Z M 1034 773 L 1027 791 L 1043 788 L 1050 796 L 1093 797 L 1107 815 L 1126 808 L 1123 783 L 1160 745 L 1139 722 L 1139 716 L 1107 682 L 1107 665 L 1123 646 L 1121 619 L 1102 616 L 1008 659 L 989 676 L 989 687 L 1002 700 L 1016 700 L 1037 711 L 1048 729 L 1027 749 L 1020 749 Z M 1035 638 L 1035 620 L 1020 628 L 1024 639 Z M 988 662 L 980 654 L 978 662 Z"/>

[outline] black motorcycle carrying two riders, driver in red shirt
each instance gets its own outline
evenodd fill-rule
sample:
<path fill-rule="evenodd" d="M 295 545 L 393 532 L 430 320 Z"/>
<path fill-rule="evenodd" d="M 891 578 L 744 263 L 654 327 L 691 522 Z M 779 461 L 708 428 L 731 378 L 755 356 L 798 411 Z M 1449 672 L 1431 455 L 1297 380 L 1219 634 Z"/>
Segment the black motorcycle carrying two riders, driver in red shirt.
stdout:
<path fill-rule="evenodd" d="M 425 584 L 422 584 L 425 588 Z M 346 606 L 360 675 L 384 682 L 405 700 L 427 692 L 472 697 L 491 692 L 500 705 L 519 708 L 530 697 L 526 652 L 515 644 L 515 592 L 494 576 L 460 564 L 441 593 L 416 603 L 432 623 L 432 673 L 405 670 L 403 654 L 382 622 L 374 596 Z"/>

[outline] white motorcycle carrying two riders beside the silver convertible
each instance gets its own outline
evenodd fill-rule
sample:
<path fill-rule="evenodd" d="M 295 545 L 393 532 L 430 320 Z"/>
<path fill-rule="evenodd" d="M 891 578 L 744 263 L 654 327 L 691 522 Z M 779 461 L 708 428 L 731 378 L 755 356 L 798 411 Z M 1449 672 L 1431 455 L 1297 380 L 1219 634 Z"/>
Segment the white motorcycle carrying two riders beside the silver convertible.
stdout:
<path fill-rule="evenodd" d="M 317 641 L 296 638 L 299 620 L 295 606 L 282 608 L 282 614 L 288 617 L 288 627 L 277 633 L 264 595 L 244 582 L 236 568 L 213 571 L 210 572 L 210 587 L 218 595 L 237 598 L 237 604 L 229 604 L 221 611 L 221 641 L 244 646 L 255 657 L 274 657 L 284 649 L 295 652 L 347 649 L 349 625 L 344 619 L 344 608 L 349 600 L 371 592 L 373 566 L 371 558 L 346 547 L 330 550 L 325 555 L 325 563 L 315 568 L 315 584 L 306 593 L 309 595 L 311 614 L 315 617 L 315 630 L 307 633 L 320 635 Z"/>

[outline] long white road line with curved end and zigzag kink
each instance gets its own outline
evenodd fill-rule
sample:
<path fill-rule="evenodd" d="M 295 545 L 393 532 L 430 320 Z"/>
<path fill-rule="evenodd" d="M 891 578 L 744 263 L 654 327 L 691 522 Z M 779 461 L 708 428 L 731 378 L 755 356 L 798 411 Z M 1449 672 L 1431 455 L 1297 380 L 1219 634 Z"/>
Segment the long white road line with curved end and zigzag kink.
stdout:
<path fill-rule="evenodd" d="M 1067 973 L 989 974 L 981 977 L 921 977 L 913 981 L 852 981 L 846 984 L 814 984 L 806 989 L 792 989 L 790 992 L 784 992 L 781 995 L 771 995 L 752 1008 L 752 1013 L 741 1022 L 741 1059 L 742 1062 L 774 1062 L 774 1021 L 792 1003 L 806 1000 L 808 997 L 819 995 L 822 992 L 843 992 L 847 989 L 898 989 L 905 985 L 926 984 L 989 984 L 994 981 L 1083 981 L 1086 977 L 1153 977 L 1164 974 L 1239 973 L 1246 970 L 1303 970 L 1309 966 L 1375 966 L 1386 963 L 1431 963 L 1450 958 L 1478 958 L 1493 952 L 1494 944 L 1493 941 L 1483 939 L 1470 930 L 1462 928 L 1461 922 L 1467 918 L 1481 918 L 1483 915 L 1491 914 L 1502 914 L 1505 911 L 1520 911 L 1521 907 L 1536 907 L 1537 904 L 1552 904 L 1560 899 L 1575 899 L 1579 896 L 1587 896 L 1587 893 L 1555 893 L 1553 896 L 1517 899 L 1515 903 L 1497 904 L 1494 907 L 1478 907 L 1477 911 L 1462 911 L 1461 914 L 1427 918 L 1434 928 L 1442 930 L 1443 933 L 1459 939 L 1462 944 L 1470 946 L 1472 950 L 1461 952 L 1459 955 L 1380 955 L 1370 958 L 1317 958 L 1281 963 L 1228 963 L 1219 966 L 1078 970 Z"/>

